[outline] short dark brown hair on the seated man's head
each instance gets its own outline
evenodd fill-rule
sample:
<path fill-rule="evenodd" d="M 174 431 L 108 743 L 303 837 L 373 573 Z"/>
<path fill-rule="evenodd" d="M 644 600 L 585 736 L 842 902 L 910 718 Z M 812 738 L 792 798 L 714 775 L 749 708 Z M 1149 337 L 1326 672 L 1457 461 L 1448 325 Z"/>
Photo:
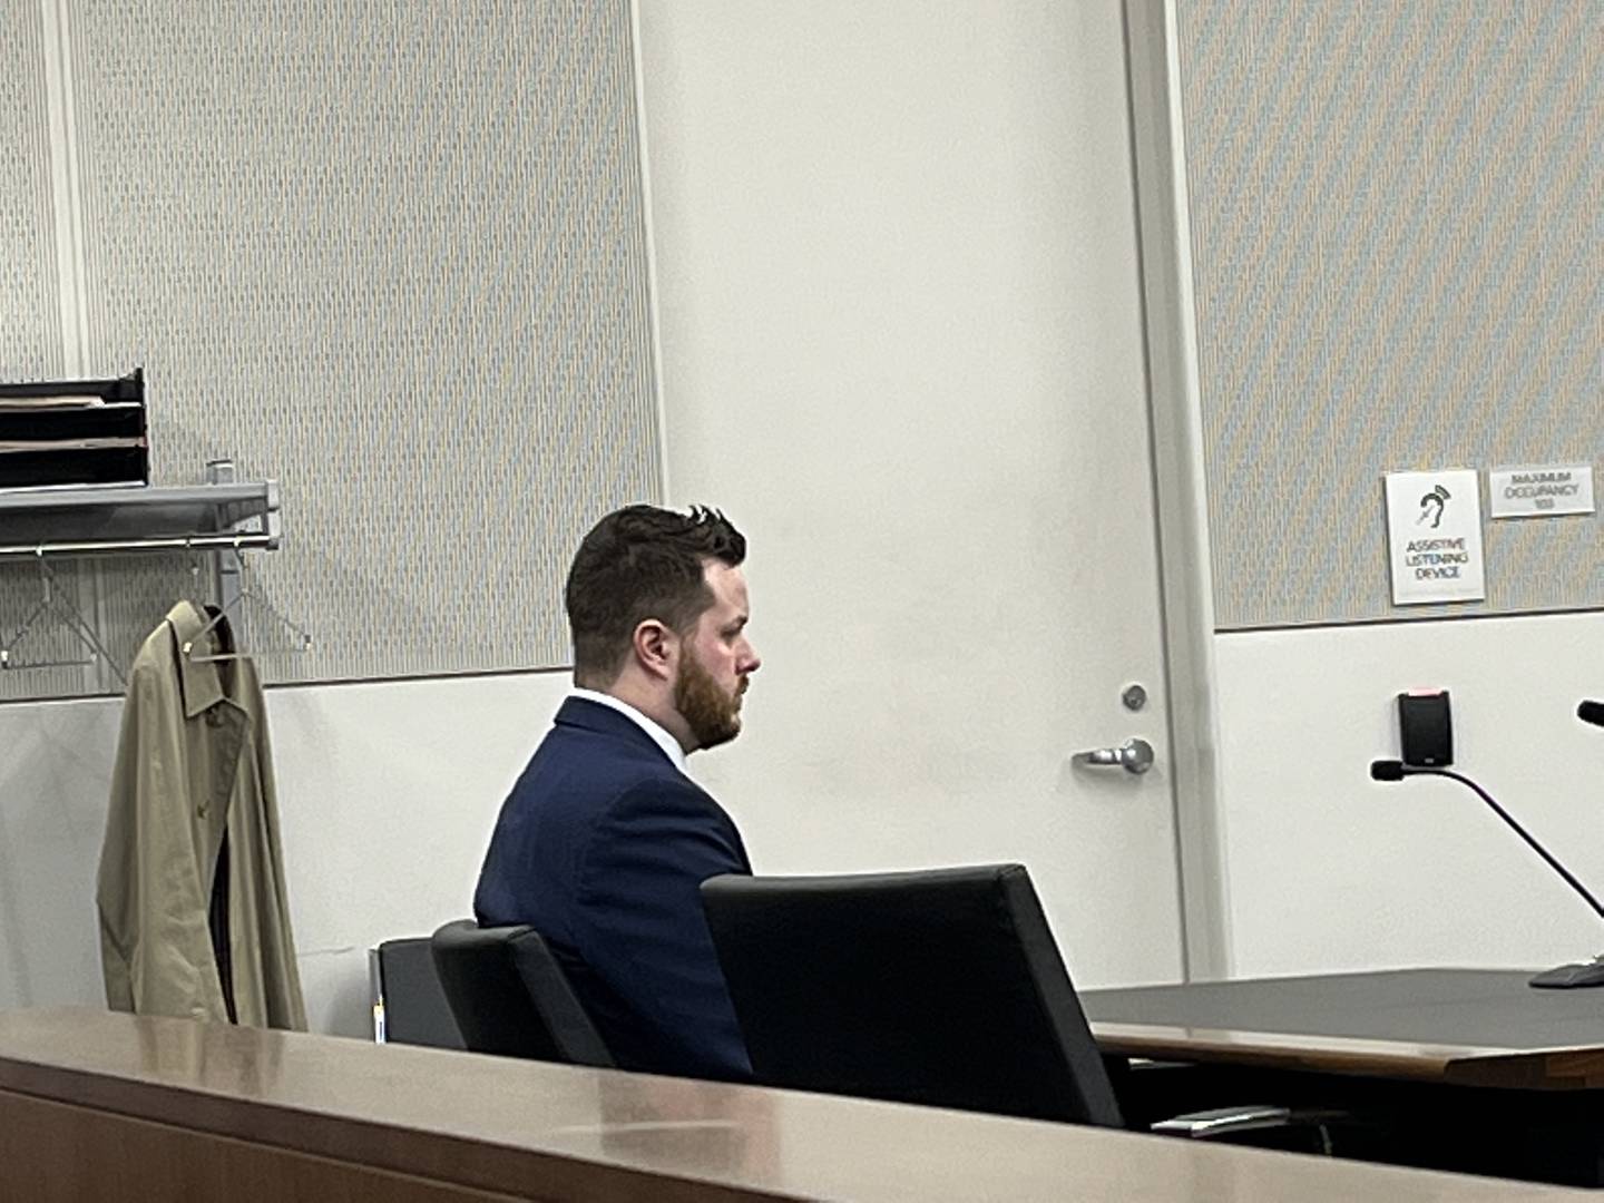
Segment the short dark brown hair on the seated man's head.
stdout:
<path fill-rule="evenodd" d="M 712 605 L 707 560 L 730 568 L 746 558 L 746 537 L 704 505 L 690 513 L 626 505 L 590 528 L 568 569 L 563 600 L 574 637 L 574 683 L 618 680 L 635 627 L 654 618 L 688 632 Z"/>

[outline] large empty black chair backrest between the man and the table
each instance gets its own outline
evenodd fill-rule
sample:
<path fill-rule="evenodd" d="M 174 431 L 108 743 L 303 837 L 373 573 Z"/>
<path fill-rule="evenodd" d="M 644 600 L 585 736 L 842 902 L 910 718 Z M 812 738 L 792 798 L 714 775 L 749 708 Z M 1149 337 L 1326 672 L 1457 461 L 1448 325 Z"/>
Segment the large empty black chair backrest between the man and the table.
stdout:
<path fill-rule="evenodd" d="M 701 889 L 759 1083 L 1123 1126 L 1022 865 Z"/>

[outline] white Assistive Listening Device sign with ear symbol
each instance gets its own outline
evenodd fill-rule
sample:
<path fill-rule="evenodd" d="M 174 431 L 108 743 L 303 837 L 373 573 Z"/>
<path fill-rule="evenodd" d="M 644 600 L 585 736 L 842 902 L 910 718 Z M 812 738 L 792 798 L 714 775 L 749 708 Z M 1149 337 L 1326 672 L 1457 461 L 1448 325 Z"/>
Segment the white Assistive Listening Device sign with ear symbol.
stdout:
<path fill-rule="evenodd" d="M 1386 492 L 1392 603 L 1482 600 L 1487 574 L 1477 473 L 1389 472 Z"/>

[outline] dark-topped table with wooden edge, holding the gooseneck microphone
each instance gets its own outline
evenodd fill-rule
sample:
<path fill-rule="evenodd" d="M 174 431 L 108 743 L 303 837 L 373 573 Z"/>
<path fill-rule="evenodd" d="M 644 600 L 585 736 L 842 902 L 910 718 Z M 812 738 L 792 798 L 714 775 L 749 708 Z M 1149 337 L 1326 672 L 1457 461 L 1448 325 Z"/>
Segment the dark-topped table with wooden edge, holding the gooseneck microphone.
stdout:
<path fill-rule="evenodd" d="M 1323 1102 L 1360 1116 L 1359 1155 L 1601 1185 L 1604 990 L 1535 990 L 1530 975 L 1408 969 L 1094 990 L 1081 1003 L 1105 1052 L 1208 1070 L 1158 1092 L 1163 1076 L 1147 1079 L 1145 1107 L 1240 1091 Z"/>

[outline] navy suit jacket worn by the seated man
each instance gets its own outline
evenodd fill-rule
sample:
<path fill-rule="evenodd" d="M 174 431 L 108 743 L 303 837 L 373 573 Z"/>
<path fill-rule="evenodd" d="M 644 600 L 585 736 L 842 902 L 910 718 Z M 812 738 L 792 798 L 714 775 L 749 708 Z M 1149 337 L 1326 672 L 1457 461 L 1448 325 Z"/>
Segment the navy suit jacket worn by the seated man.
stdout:
<path fill-rule="evenodd" d="M 473 911 L 545 937 L 621 1068 L 751 1078 L 701 884 L 735 823 L 629 715 L 569 698 L 502 804 Z"/>

